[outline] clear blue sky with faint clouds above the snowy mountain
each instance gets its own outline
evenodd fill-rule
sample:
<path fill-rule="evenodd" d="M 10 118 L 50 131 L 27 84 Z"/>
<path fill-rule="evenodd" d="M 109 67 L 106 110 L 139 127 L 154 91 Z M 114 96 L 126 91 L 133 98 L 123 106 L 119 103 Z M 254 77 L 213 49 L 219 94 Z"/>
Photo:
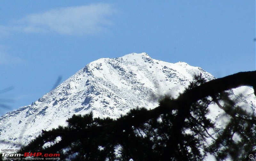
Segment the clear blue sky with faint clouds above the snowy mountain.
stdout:
<path fill-rule="evenodd" d="M 216 77 L 255 70 L 255 0 L 0 1 L 0 115 L 91 61 L 146 52 Z"/>

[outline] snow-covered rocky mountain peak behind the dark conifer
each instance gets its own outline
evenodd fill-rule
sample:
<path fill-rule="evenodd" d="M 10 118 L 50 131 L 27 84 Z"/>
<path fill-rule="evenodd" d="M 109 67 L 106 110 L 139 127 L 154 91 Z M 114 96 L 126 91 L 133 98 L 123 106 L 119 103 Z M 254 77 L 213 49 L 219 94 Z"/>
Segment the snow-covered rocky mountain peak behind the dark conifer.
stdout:
<path fill-rule="evenodd" d="M 2 116 L 0 149 L 27 144 L 42 129 L 65 125 L 73 114 L 92 111 L 95 117 L 116 118 L 137 106 L 154 108 L 161 95 L 177 97 L 192 81 L 193 74 L 199 73 L 207 80 L 214 79 L 200 67 L 154 60 L 146 53 L 93 61 L 31 105 Z M 233 97 L 236 96 L 244 96 L 239 98 L 254 111 L 252 88 L 236 88 Z M 218 112 L 213 111 L 213 115 Z"/>

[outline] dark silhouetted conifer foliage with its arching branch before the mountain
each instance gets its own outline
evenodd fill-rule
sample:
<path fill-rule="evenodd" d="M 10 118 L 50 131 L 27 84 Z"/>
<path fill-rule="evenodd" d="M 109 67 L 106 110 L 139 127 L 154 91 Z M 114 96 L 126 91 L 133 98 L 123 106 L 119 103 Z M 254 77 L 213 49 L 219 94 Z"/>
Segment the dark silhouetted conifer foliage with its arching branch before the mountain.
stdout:
<path fill-rule="evenodd" d="M 256 153 L 255 113 L 237 106 L 226 90 L 253 86 L 255 77 L 244 72 L 206 82 L 196 75 L 177 99 L 165 96 L 154 109 L 134 108 L 116 120 L 73 115 L 68 126 L 43 130 L 22 151 L 60 153 L 61 160 L 74 161 L 203 160 L 209 154 L 248 160 Z M 212 104 L 225 111 L 222 127 L 207 117 Z"/>

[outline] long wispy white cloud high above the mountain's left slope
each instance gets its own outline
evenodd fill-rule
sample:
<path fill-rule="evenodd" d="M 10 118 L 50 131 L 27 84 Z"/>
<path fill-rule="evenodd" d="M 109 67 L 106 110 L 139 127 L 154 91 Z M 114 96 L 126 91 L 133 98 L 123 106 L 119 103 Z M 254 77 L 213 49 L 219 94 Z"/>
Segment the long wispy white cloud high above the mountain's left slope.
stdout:
<path fill-rule="evenodd" d="M 98 3 L 59 8 L 31 14 L 10 25 L 0 25 L 0 32 L 54 32 L 67 35 L 96 34 L 112 24 L 109 17 L 115 13 L 112 5 Z"/>

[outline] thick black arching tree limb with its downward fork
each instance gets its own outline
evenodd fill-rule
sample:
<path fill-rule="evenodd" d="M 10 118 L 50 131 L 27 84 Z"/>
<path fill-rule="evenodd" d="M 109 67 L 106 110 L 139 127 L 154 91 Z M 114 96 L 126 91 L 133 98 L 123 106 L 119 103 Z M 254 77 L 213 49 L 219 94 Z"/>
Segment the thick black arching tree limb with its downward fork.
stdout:
<path fill-rule="evenodd" d="M 141 110 L 134 113 L 133 115 L 125 115 L 108 124 L 93 127 L 91 129 L 86 129 L 84 131 L 81 131 L 80 133 L 77 133 L 75 131 L 63 131 L 61 133 L 56 133 L 56 136 L 61 136 L 61 138 L 67 138 L 66 136 L 72 135 L 72 138 L 65 140 L 65 143 L 63 143 L 64 141 L 60 141 L 60 145 L 62 145 L 61 147 L 64 148 L 69 143 L 75 141 L 75 138 L 80 137 L 81 134 L 87 133 L 88 130 L 106 131 L 108 132 L 108 134 L 121 134 L 123 130 L 129 130 L 132 126 L 138 127 L 140 124 L 145 123 L 152 118 L 158 118 L 159 115 L 169 113 L 172 110 L 178 110 L 178 113 L 172 122 L 172 128 L 170 131 L 171 136 L 169 137 L 164 153 L 160 158 L 161 160 L 171 160 L 173 154 L 172 152 L 177 149 L 177 146 L 181 141 L 181 131 L 184 127 L 185 119 L 188 118 L 190 115 L 191 104 L 207 96 L 214 96 L 220 92 L 240 86 L 256 87 L 256 71 L 240 72 L 223 78 L 208 81 L 200 86 L 187 90 L 183 94 L 180 94 L 177 99 L 170 99 L 168 101 L 164 101 L 164 103 L 161 103 L 160 106 L 154 109 Z M 98 137 L 101 135 L 100 132 L 93 132 L 93 134 L 94 135 L 91 137 Z M 117 136 L 110 135 L 109 137 Z M 55 147 L 53 147 L 53 149 L 54 148 Z"/>

